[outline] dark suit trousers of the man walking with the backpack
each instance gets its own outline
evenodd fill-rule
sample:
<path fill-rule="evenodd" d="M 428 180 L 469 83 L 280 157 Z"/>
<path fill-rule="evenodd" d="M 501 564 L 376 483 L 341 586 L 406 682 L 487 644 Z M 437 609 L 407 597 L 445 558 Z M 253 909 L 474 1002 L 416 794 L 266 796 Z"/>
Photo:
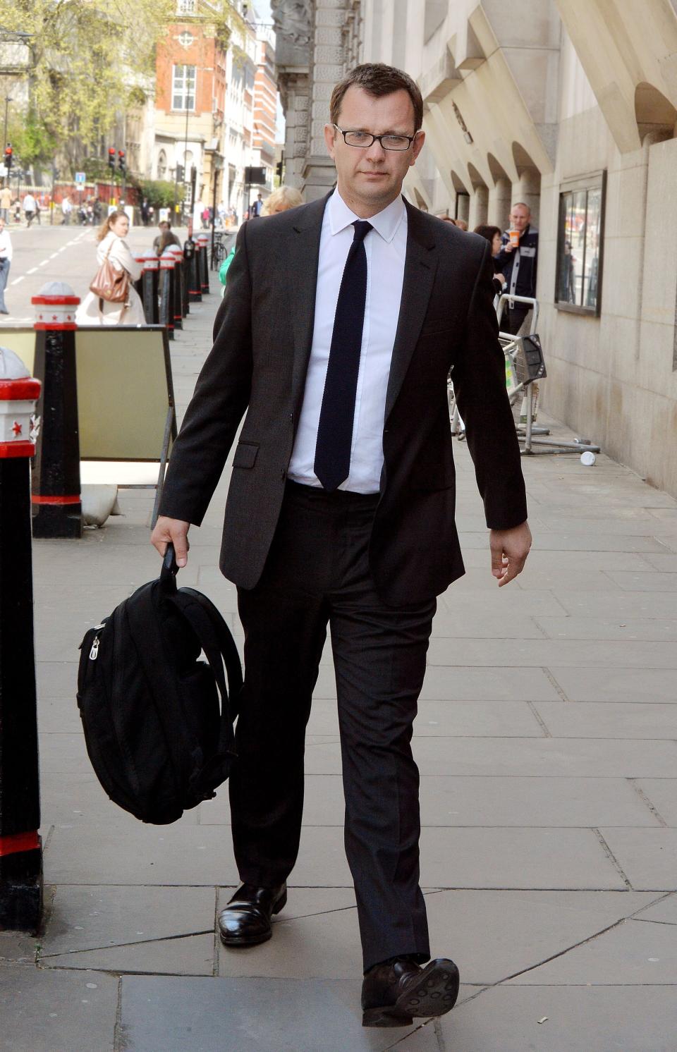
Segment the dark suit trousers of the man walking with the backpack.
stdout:
<path fill-rule="evenodd" d="M 230 781 L 240 877 L 278 885 L 298 853 L 305 725 L 328 624 L 365 969 L 430 956 L 411 739 L 436 602 L 393 608 L 376 594 L 367 551 L 377 503 L 287 483 L 263 575 L 238 592 L 245 681 Z"/>

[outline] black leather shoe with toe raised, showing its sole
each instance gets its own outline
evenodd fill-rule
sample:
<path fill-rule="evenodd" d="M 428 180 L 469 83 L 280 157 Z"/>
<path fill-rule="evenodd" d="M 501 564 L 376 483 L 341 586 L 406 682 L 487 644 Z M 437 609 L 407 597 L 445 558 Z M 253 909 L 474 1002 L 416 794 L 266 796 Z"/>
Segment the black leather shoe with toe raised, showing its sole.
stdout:
<path fill-rule="evenodd" d="M 415 1015 L 444 1015 L 456 1004 L 458 984 L 458 968 L 447 957 L 424 968 L 407 957 L 376 965 L 362 983 L 362 1026 L 407 1027 Z"/>

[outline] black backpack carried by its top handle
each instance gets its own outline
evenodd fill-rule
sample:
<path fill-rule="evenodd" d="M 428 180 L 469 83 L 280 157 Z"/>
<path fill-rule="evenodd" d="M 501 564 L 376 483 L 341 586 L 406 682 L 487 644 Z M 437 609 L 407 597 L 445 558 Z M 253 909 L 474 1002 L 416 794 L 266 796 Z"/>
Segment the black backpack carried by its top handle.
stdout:
<path fill-rule="evenodd" d="M 158 825 L 211 800 L 227 778 L 242 687 L 223 618 L 205 595 L 177 588 L 176 573 L 167 545 L 159 580 L 85 633 L 78 671 L 78 706 L 99 782 L 114 803 Z M 208 664 L 198 660 L 201 650 Z"/>

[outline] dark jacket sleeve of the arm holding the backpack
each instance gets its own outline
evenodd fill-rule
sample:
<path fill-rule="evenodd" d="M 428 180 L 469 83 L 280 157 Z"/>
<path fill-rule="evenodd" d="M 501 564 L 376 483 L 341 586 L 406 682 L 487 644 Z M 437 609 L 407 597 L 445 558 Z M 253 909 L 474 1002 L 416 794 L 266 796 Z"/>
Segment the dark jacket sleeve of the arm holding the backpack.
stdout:
<path fill-rule="evenodd" d="M 248 405 L 252 389 L 252 278 L 246 224 L 214 325 L 206 359 L 170 460 L 160 514 L 199 526 Z"/>

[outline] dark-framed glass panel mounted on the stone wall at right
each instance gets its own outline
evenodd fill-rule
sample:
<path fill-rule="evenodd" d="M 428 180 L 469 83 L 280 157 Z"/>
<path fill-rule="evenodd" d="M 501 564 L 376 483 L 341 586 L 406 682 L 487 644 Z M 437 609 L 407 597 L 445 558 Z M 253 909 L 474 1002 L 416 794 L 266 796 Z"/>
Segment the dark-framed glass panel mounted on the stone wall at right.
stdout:
<path fill-rule="evenodd" d="M 602 171 L 559 195 L 555 302 L 560 310 L 600 313 L 605 187 Z"/>

